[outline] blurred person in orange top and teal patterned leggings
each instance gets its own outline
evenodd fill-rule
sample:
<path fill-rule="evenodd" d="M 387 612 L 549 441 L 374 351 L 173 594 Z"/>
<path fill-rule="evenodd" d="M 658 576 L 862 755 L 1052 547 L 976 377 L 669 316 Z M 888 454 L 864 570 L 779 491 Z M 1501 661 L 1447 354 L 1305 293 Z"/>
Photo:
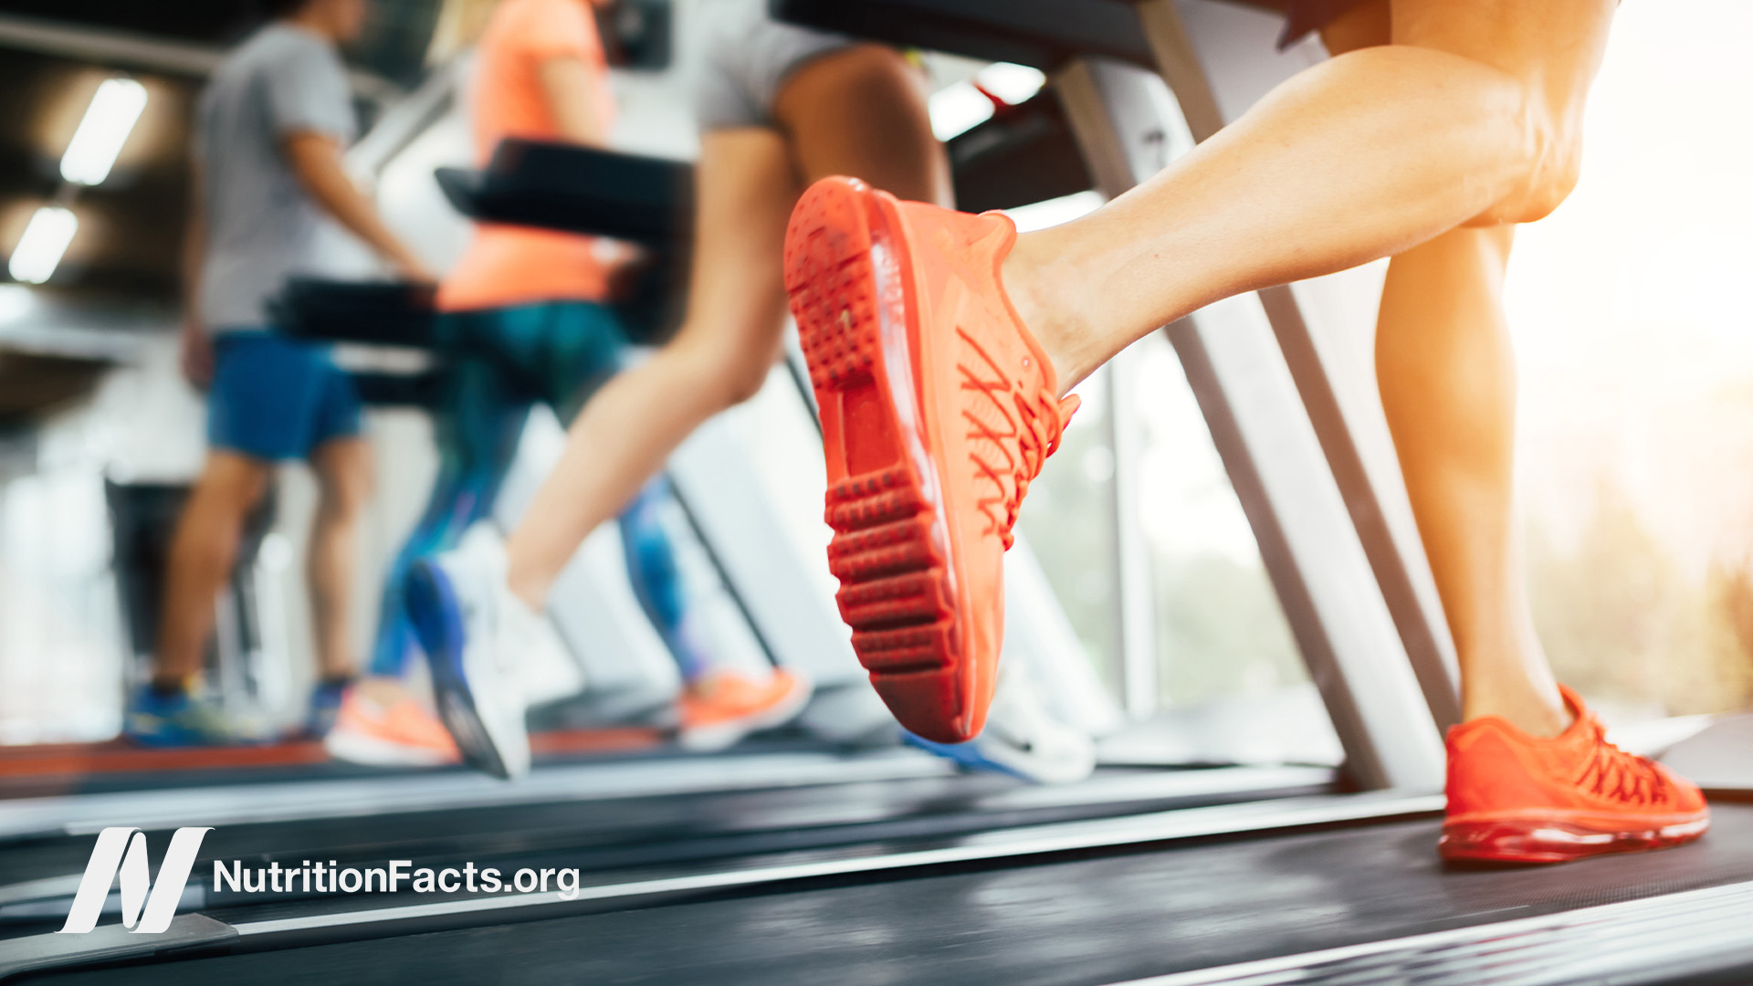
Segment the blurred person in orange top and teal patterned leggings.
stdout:
<path fill-rule="evenodd" d="M 473 91 L 477 160 L 484 165 L 507 137 L 568 140 L 603 147 L 615 102 L 591 7 L 608 0 L 501 0 L 479 44 Z M 526 226 L 482 223 L 438 288 L 438 342 L 451 354 L 435 416 L 440 474 L 426 514 L 391 567 L 372 677 L 347 693 L 328 747 L 345 760 L 438 763 L 456 758 L 445 728 L 400 686 L 412 640 L 401 593 L 408 565 L 458 547 L 493 563 L 491 519 L 524 419 L 536 402 L 570 418 L 621 368 L 628 337 L 605 305 L 617 244 Z M 694 749 L 731 746 L 745 733 L 789 721 L 810 682 L 777 668 L 766 679 L 715 667 L 691 609 L 663 528 L 666 486 L 647 482 L 621 512 L 628 568 L 640 604 L 682 672 L 677 702 L 680 740 Z M 466 533 L 465 533 L 466 532 Z M 570 663 L 545 619 L 512 621 L 531 651 Z M 542 658 L 536 658 L 542 660 Z M 445 677 L 440 667 L 436 679 Z M 519 763 L 494 772 L 522 772 Z"/>

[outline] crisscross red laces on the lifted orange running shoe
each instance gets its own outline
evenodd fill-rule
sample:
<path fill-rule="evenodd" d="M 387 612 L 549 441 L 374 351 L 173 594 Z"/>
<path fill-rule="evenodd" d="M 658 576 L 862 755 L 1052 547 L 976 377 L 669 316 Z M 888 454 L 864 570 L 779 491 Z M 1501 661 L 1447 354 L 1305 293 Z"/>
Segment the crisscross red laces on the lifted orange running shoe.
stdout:
<path fill-rule="evenodd" d="M 1048 456 L 1059 451 L 1059 440 L 1064 435 L 1069 412 L 1061 412 L 1059 400 L 1045 389 L 1029 393 L 1026 388 L 1017 388 L 978 342 L 969 339 L 968 333 L 961 335 L 980 354 L 990 374 L 982 379 L 971 367 L 962 363 L 962 389 L 983 395 L 1004 421 L 1004 430 L 999 432 L 971 409 L 962 407 L 962 418 L 969 426 L 968 437 L 985 439 L 990 447 L 996 447 L 1004 456 L 1003 463 L 996 463 L 980 453 L 969 454 L 976 475 L 987 479 L 994 488 L 994 493 L 982 497 L 976 505 L 987 516 L 990 530 L 997 533 L 1004 549 L 1010 551 L 1010 546 L 1017 542 L 1011 528 L 1017 526 L 1022 500 L 1029 495 L 1029 482 L 1041 474 L 1041 465 L 1047 463 Z M 1011 447 L 1015 447 L 1015 454 L 1010 451 Z"/>

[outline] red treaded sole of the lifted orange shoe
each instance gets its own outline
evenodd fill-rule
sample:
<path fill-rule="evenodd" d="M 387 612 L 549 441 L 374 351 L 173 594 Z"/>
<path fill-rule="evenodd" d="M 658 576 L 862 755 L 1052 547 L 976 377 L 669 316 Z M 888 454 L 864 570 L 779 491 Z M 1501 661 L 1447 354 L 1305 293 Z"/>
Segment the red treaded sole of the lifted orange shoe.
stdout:
<path fill-rule="evenodd" d="M 785 289 L 822 418 L 840 616 L 894 718 L 924 739 L 961 742 L 973 735 L 973 682 L 959 660 L 957 565 L 927 451 L 933 416 L 913 381 L 906 263 L 868 188 L 819 182 L 798 202 Z"/>

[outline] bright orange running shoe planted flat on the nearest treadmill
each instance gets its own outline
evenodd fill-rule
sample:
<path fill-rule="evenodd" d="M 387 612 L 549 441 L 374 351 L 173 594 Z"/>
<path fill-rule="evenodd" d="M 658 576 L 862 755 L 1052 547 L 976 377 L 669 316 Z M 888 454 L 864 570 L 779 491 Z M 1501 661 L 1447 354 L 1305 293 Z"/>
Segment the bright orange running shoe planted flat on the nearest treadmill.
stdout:
<path fill-rule="evenodd" d="M 1497 716 L 1448 732 L 1444 860 L 1565 863 L 1704 835 L 1711 809 L 1699 788 L 1608 742 L 1583 700 L 1558 691 L 1576 721 L 1553 739 Z"/>

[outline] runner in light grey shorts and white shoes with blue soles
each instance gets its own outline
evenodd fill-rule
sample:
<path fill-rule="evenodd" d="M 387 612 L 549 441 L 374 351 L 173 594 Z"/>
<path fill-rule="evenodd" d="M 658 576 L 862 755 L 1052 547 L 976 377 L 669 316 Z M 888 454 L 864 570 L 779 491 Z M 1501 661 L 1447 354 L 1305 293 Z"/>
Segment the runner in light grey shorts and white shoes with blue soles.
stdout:
<path fill-rule="evenodd" d="M 778 254 L 803 181 L 850 172 L 933 202 L 950 196 L 922 74 L 891 47 L 778 25 L 764 9 L 764 0 L 715 0 L 701 12 L 713 23 L 696 86 L 696 237 L 680 332 L 591 398 L 503 546 L 489 532 L 472 533 L 459 551 L 410 570 L 421 644 L 429 656 L 447 654 L 435 663 L 440 711 L 465 756 L 496 774 L 528 768 L 522 705 L 507 682 L 540 633 L 536 614 L 561 568 L 698 425 L 761 389 L 778 358 Z M 784 681 L 736 681 L 724 702 L 770 719 L 789 700 Z M 1034 779 L 1087 775 L 1089 737 L 1038 705 L 1018 679 L 1006 709 L 1015 732 L 1031 739 L 954 756 Z"/>

